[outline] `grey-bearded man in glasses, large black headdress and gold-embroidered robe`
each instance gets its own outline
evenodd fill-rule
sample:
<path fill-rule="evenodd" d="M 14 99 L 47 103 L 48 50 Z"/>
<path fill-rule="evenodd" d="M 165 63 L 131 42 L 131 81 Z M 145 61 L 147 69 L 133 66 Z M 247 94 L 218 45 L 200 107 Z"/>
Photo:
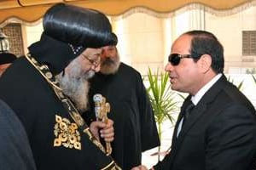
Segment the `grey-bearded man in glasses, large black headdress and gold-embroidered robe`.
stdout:
<path fill-rule="evenodd" d="M 58 3 L 44 14 L 43 26 L 40 41 L 0 81 L 0 98 L 25 127 L 37 169 L 118 169 L 97 139 L 100 129 L 113 140 L 113 122 L 88 127 L 79 114 L 87 107 L 87 79 L 99 71 L 101 47 L 111 42 L 108 18 Z"/>

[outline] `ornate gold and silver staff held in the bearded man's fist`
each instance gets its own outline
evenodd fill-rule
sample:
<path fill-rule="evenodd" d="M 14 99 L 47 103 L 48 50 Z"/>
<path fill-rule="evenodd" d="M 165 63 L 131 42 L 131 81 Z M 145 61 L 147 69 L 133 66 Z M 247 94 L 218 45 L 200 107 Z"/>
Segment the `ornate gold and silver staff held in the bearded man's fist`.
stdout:
<path fill-rule="evenodd" d="M 94 111 L 96 114 L 96 120 L 101 121 L 104 123 L 108 123 L 108 112 L 110 111 L 110 105 L 109 103 L 106 103 L 106 98 L 102 96 L 102 94 L 95 94 L 93 96 L 94 101 Z M 106 142 L 106 152 L 107 156 L 109 156 L 112 153 L 112 147 L 110 142 Z"/>

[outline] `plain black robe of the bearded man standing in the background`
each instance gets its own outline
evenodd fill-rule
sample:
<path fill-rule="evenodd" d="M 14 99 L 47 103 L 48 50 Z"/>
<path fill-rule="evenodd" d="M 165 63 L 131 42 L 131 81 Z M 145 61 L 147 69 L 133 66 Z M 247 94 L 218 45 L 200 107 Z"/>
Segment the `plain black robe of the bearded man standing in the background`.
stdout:
<path fill-rule="evenodd" d="M 111 106 L 108 117 L 114 122 L 113 159 L 125 170 L 140 165 L 142 152 L 160 144 L 140 73 L 124 63 L 114 75 L 96 73 L 90 80 L 90 112 L 94 110 L 94 94 L 102 94 Z M 89 114 L 84 114 L 87 120 Z"/>

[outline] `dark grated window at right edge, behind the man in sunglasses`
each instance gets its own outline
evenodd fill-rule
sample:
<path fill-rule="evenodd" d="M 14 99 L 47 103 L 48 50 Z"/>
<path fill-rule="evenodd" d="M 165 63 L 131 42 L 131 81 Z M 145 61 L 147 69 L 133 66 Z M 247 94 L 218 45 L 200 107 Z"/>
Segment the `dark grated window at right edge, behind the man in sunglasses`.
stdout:
<path fill-rule="evenodd" d="M 256 55 L 256 31 L 242 31 L 242 55 Z"/>

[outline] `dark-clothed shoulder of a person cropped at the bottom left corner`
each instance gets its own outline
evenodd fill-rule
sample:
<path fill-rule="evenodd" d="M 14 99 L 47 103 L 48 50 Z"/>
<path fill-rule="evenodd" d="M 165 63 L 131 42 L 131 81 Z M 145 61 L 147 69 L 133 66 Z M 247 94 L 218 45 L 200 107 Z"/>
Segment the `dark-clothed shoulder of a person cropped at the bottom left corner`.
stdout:
<path fill-rule="evenodd" d="M 0 169 L 36 169 L 26 131 L 20 119 L 0 99 Z"/>

